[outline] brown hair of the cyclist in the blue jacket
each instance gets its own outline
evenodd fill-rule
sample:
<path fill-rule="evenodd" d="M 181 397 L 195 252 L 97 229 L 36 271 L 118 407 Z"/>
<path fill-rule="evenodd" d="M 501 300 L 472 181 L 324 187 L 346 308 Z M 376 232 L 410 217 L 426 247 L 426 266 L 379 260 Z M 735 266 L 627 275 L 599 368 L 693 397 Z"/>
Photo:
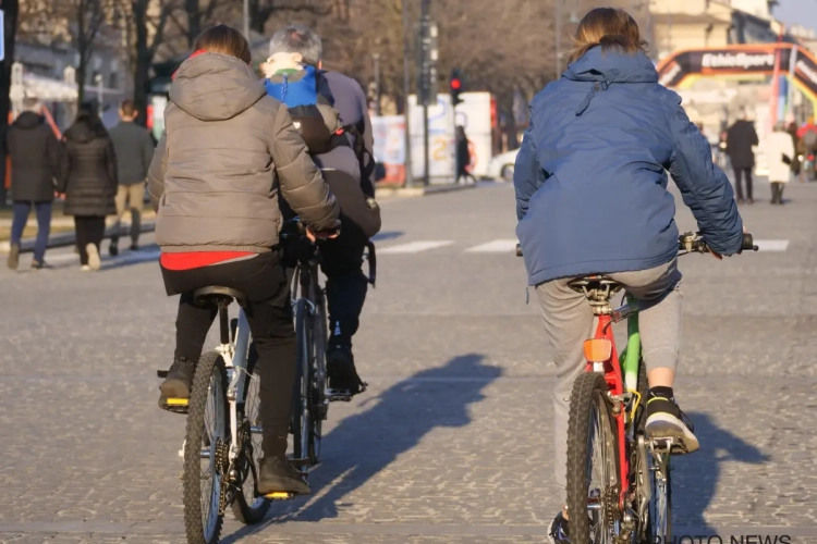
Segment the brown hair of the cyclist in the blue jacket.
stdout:
<path fill-rule="evenodd" d="M 590 10 L 578 23 L 573 44 L 569 62 L 575 62 L 597 46 L 601 46 L 603 52 L 615 50 L 629 54 L 647 48 L 638 32 L 638 23 L 624 10 L 614 8 Z"/>

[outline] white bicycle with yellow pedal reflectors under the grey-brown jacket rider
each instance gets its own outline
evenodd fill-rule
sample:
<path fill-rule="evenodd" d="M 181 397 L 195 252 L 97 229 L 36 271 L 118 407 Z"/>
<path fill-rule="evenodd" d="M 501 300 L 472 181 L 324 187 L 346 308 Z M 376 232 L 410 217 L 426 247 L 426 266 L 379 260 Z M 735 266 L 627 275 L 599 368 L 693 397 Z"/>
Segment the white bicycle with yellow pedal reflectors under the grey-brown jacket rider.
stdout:
<path fill-rule="evenodd" d="M 228 307 L 242 310 L 232 321 Z M 193 376 L 190 398 L 167 398 L 164 408 L 187 415 L 184 459 L 184 527 L 191 544 L 215 544 L 224 511 L 247 524 L 264 519 L 270 500 L 293 498 L 291 493 L 260 495 L 257 481 L 261 453 L 257 357 L 251 349 L 249 324 L 243 307 L 246 296 L 229 287 L 210 286 L 194 292 L 196 305 L 218 307 L 220 345 L 202 355 Z M 167 371 L 158 371 L 166 378 Z M 291 459 L 303 465 L 303 459 Z"/>

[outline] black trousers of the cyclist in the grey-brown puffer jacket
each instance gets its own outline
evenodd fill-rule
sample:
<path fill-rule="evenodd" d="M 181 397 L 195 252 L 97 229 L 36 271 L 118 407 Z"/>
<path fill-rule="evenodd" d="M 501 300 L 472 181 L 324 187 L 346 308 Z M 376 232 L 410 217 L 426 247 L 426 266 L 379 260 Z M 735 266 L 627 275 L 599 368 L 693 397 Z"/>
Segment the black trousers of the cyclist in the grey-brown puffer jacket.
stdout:
<path fill-rule="evenodd" d="M 290 288 L 280 251 L 192 270 L 162 268 L 161 272 L 168 295 L 181 294 L 175 321 L 175 357 L 197 361 L 218 314 L 215 306 L 196 306 L 193 290 L 221 285 L 247 296 L 244 312 L 258 353 L 255 372 L 260 376 L 261 449 L 265 456 L 283 457 L 297 353 Z"/>

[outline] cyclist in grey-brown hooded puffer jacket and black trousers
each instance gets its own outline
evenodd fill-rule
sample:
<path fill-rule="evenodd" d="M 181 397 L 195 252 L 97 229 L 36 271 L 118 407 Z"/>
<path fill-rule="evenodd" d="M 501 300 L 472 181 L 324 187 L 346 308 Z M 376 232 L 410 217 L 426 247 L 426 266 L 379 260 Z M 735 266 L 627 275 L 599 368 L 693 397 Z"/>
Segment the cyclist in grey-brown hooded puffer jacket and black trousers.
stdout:
<path fill-rule="evenodd" d="M 159 405 L 190 396 L 217 313 L 197 306 L 194 290 L 219 285 L 244 293 L 260 375 L 258 491 L 308 493 L 285 457 L 296 342 L 278 199 L 317 234 L 337 228 L 339 208 L 286 108 L 267 96 L 249 67 L 242 34 L 214 26 L 195 51 L 174 75 L 166 134 L 148 176 L 164 286 L 168 295 L 181 295 L 175 355 Z"/>

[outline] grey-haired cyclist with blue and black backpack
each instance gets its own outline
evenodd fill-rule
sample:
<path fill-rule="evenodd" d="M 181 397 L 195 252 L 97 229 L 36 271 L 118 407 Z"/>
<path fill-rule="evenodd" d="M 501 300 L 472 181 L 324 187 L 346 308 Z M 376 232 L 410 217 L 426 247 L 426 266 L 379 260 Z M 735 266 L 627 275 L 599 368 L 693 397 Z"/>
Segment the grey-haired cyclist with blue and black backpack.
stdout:
<path fill-rule="evenodd" d="M 366 95 L 343 74 L 322 70 L 320 37 L 303 26 L 288 26 L 269 42 L 263 69 L 267 92 L 284 102 L 324 178 L 341 208 L 341 233 L 320 240 L 327 276 L 329 347 L 327 374 L 333 390 L 357 394 L 364 384 L 352 354 L 368 279 L 363 256 L 380 230 L 375 202 L 375 160 Z"/>

